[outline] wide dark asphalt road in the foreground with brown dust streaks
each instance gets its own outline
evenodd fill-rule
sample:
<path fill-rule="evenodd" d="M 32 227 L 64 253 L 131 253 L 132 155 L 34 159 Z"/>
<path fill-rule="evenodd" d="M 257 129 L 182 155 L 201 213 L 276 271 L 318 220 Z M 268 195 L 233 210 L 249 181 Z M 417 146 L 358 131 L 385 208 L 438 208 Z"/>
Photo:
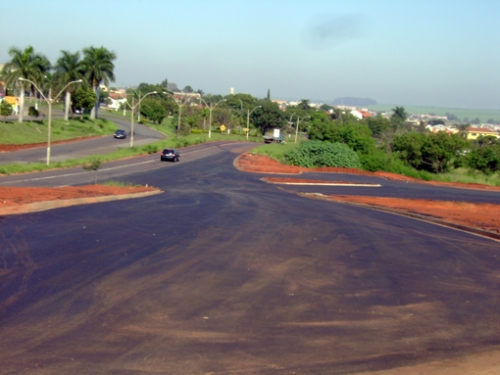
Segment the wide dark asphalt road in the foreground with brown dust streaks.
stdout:
<path fill-rule="evenodd" d="M 498 242 L 301 197 L 236 170 L 248 145 L 203 146 L 120 176 L 163 194 L 0 218 L 0 374 L 349 374 L 498 349 Z"/>

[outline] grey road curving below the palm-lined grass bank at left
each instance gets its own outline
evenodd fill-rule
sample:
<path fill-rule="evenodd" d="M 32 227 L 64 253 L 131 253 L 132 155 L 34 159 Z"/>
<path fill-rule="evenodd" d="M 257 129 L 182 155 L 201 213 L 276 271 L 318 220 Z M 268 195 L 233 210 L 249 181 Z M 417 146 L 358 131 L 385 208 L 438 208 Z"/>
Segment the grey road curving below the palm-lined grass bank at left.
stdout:
<path fill-rule="evenodd" d="M 130 132 L 130 118 L 115 118 L 100 114 L 103 118 L 118 124 L 121 129 Z M 141 124 L 134 125 L 134 145 L 142 146 L 165 138 L 165 135 Z M 67 159 L 77 159 L 89 155 L 107 154 L 120 148 L 130 147 L 130 137 L 115 139 L 113 135 L 92 138 L 78 142 L 69 142 L 51 145 L 51 163 Z M 37 147 L 15 152 L 0 153 L 0 165 L 12 163 L 45 163 L 47 160 L 47 147 Z"/>

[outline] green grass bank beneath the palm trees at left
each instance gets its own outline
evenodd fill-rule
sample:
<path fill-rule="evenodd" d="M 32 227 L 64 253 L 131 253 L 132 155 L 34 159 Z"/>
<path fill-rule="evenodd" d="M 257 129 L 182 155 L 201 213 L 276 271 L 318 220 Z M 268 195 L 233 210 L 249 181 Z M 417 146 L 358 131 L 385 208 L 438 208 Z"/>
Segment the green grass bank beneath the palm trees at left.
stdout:
<path fill-rule="evenodd" d="M 95 121 L 87 118 L 64 121 L 52 119 L 51 140 L 63 141 L 81 137 L 113 134 L 118 126 L 105 119 Z M 47 142 L 47 120 L 27 120 L 0 122 L 0 143 L 6 145 L 21 145 Z"/>

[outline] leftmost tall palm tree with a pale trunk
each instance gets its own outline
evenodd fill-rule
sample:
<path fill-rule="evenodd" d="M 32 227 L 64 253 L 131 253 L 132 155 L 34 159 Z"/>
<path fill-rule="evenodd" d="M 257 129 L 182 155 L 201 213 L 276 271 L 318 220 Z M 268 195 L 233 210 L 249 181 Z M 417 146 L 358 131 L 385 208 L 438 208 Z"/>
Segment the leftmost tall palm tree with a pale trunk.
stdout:
<path fill-rule="evenodd" d="M 19 78 L 29 79 L 35 83 L 42 82 L 45 73 L 50 70 L 50 62 L 41 54 L 35 53 L 32 46 L 28 46 L 24 51 L 19 48 L 12 47 L 9 49 L 11 57 L 10 62 L 5 64 L 2 73 L 5 76 L 5 84 L 15 85 Z M 21 100 L 19 111 L 19 122 L 23 122 L 24 111 L 24 84 L 19 81 L 21 85 Z M 31 92 L 35 92 L 35 87 L 30 85 Z"/>

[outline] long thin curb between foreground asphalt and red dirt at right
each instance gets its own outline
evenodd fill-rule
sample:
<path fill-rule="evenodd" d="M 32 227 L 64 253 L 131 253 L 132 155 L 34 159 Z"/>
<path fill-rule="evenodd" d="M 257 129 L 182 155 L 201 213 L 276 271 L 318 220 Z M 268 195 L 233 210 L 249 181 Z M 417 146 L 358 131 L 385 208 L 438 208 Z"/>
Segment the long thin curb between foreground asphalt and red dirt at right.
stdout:
<path fill-rule="evenodd" d="M 393 208 L 385 208 L 385 207 L 375 206 L 375 205 L 371 205 L 371 204 L 344 202 L 341 200 L 326 198 L 326 196 L 324 196 L 322 194 L 318 194 L 318 193 L 299 193 L 299 195 L 305 196 L 308 198 L 327 200 L 330 202 L 341 203 L 341 204 L 346 204 L 346 205 L 351 205 L 351 206 L 356 206 L 356 207 L 369 208 L 372 210 L 388 212 L 388 213 L 395 214 L 395 215 L 406 216 L 406 217 L 410 217 L 410 218 L 417 219 L 420 221 L 426 221 L 428 223 L 441 225 L 444 227 L 448 227 L 448 228 L 460 230 L 463 232 L 475 234 L 477 236 L 488 237 L 490 239 L 500 241 L 500 233 L 495 233 L 495 232 L 492 232 L 489 230 L 484 230 L 484 229 L 479 229 L 479 228 L 474 228 L 474 227 L 468 227 L 466 225 L 456 224 L 456 223 L 452 223 L 452 222 L 449 222 L 446 220 L 442 220 L 442 219 L 438 219 L 438 218 L 434 218 L 434 217 L 430 217 L 430 216 L 426 216 L 426 215 L 422 215 L 422 214 L 417 214 L 414 212 L 401 211 L 401 210 L 396 210 Z"/>

